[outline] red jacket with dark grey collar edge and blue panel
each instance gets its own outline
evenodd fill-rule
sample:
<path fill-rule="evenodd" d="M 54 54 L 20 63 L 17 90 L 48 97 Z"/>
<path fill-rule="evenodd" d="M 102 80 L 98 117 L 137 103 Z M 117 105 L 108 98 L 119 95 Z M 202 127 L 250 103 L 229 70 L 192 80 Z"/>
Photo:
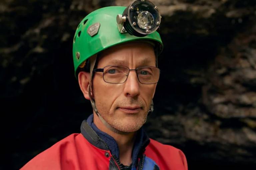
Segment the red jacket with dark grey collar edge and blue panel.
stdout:
<path fill-rule="evenodd" d="M 119 170 L 118 161 L 87 123 L 74 133 L 35 156 L 21 170 Z M 187 170 L 183 152 L 153 139 L 146 146 L 140 164 L 143 170 Z M 142 161 L 142 159 L 144 159 Z M 156 164 L 154 166 L 154 164 Z M 152 165 L 152 166 L 151 166 Z"/>

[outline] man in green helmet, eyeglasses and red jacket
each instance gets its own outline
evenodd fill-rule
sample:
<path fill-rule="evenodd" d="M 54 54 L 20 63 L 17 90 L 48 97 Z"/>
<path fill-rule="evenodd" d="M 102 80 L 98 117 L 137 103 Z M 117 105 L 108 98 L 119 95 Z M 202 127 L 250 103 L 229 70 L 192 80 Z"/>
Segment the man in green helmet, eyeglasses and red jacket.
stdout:
<path fill-rule="evenodd" d="M 75 76 L 93 114 L 80 134 L 62 139 L 21 169 L 187 170 L 182 151 L 149 139 L 141 128 L 153 111 L 162 51 L 154 31 L 160 14 L 149 5 L 101 8 L 82 20 L 73 41 Z M 139 9 L 145 7 L 148 11 Z"/>

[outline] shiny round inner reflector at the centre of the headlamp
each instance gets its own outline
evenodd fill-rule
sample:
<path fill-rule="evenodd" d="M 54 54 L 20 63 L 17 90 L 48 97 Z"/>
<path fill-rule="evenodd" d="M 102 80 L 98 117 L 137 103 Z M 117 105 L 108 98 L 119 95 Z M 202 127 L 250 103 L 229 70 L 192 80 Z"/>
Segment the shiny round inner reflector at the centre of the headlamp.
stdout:
<path fill-rule="evenodd" d="M 138 26 L 142 29 L 148 30 L 153 27 L 154 17 L 148 11 L 142 11 L 139 13 L 137 17 Z"/>

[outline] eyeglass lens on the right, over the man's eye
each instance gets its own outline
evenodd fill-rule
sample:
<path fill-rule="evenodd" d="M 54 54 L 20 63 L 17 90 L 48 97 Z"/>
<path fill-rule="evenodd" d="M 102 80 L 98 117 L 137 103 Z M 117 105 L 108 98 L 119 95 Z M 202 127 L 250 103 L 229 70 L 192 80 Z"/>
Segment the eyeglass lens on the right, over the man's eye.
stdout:
<path fill-rule="evenodd" d="M 157 67 L 140 67 L 137 69 L 137 75 L 142 84 L 154 84 L 159 80 L 160 69 Z"/>

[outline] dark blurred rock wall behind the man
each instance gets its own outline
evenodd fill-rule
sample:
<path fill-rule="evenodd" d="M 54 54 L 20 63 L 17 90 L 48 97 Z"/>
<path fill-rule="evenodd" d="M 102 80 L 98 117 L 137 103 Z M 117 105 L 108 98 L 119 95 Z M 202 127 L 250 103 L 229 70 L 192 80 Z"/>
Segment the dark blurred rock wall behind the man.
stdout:
<path fill-rule="evenodd" d="M 19 169 L 92 112 L 73 73 L 79 22 L 127 0 L 1 0 L 1 169 Z M 256 1 L 154 0 L 165 48 L 145 125 L 190 170 L 256 169 Z"/>

